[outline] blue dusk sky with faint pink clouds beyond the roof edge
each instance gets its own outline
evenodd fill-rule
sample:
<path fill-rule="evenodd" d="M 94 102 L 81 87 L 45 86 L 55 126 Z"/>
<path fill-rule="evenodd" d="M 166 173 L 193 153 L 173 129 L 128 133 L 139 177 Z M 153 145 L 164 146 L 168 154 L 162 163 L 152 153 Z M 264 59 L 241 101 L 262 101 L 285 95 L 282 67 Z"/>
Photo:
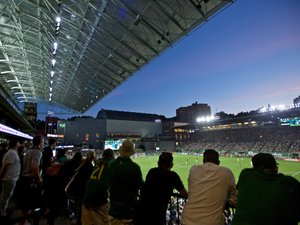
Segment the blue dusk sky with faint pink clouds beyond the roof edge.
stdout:
<path fill-rule="evenodd" d="M 213 114 L 292 104 L 300 95 L 299 11 L 299 0 L 237 0 L 85 115 L 104 108 L 172 117 L 196 101 Z"/>

